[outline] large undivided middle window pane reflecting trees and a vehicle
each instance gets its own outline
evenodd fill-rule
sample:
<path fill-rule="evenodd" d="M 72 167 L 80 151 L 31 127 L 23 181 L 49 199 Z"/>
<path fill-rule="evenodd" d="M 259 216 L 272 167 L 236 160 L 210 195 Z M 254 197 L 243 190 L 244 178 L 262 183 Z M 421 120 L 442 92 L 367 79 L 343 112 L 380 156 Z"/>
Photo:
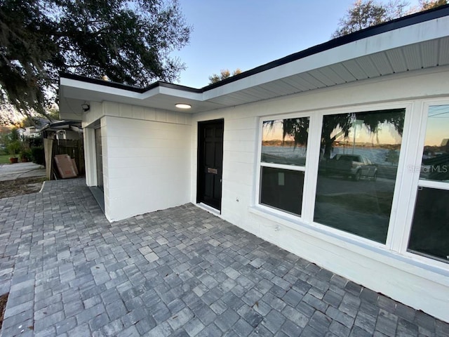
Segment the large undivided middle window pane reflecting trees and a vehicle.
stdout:
<path fill-rule="evenodd" d="M 405 110 L 323 117 L 314 221 L 385 243 Z"/>

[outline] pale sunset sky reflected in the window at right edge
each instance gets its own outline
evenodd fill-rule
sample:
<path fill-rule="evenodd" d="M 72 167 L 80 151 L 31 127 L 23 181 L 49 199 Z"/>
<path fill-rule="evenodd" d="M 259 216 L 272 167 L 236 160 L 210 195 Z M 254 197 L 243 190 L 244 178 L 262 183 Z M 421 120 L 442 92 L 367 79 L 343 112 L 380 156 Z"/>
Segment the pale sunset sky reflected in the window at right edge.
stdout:
<path fill-rule="evenodd" d="M 434 105 L 429 107 L 427 119 L 427 146 L 441 146 L 443 140 L 449 138 L 449 105 Z"/>

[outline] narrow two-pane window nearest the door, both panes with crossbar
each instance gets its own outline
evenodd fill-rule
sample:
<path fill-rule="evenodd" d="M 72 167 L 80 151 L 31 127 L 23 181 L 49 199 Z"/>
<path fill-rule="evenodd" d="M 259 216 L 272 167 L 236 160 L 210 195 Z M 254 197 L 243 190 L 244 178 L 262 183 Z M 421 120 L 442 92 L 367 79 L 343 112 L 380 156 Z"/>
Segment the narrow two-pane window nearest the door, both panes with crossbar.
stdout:
<path fill-rule="evenodd" d="M 262 122 L 260 204 L 301 215 L 308 136 L 309 117 Z"/>

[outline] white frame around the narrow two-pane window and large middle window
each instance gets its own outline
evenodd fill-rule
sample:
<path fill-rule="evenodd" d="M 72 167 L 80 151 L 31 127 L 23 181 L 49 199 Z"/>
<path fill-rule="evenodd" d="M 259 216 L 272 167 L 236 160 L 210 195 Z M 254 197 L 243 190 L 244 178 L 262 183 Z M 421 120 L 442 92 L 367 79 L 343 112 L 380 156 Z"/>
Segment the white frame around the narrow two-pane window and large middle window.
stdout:
<path fill-rule="evenodd" d="M 266 116 L 260 116 L 258 120 L 258 131 L 259 135 L 257 137 L 257 157 L 256 157 L 256 175 L 255 175 L 255 195 L 254 195 L 254 205 L 260 211 L 266 213 L 271 213 L 274 216 L 279 216 L 279 218 L 291 221 L 294 225 L 293 227 L 298 228 L 299 226 L 306 225 L 307 227 L 314 227 L 316 229 L 317 237 L 323 238 L 319 233 L 324 233 L 330 235 L 330 237 L 338 237 L 343 241 L 356 242 L 363 246 L 377 247 L 383 250 L 399 251 L 394 248 L 394 232 L 396 230 L 396 225 L 398 219 L 403 220 L 403 218 L 398 217 L 398 204 L 404 198 L 401 187 L 403 185 L 403 170 L 406 166 L 406 154 L 409 152 L 409 146 L 407 143 L 408 138 L 412 135 L 413 126 L 411 114 L 413 112 L 413 107 L 415 101 L 410 100 L 398 100 L 389 103 L 374 103 L 365 105 L 351 105 L 348 107 L 329 107 L 321 108 L 316 110 L 307 110 L 303 112 L 289 112 L 284 114 L 268 114 Z M 323 126 L 323 117 L 333 114 L 342 113 L 357 113 L 357 112 L 368 112 L 373 110 L 394 110 L 394 109 L 404 109 L 405 119 L 403 126 L 403 136 L 401 140 L 401 152 L 398 159 L 398 169 L 396 172 L 396 181 L 394 184 L 394 196 L 391 203 L 391 213 L 389 218 L 389 227 L 387 232 L 387 240 L 385 244 L 380 242 L 375 242 L 371 239 L 366 239 L 365 237 L 358 236 L 349 232 L 344 232 L 336 228 L 330 227 L 328 225 L 323 225 L 321 223 L 314 222 L 314 209 L 315 209 L 315 197 L 316 197 L 316 183 L 318 180 L 318 169 L 319 169 L 319 153 L 321 149 L 321 131 Z M 269 166 L 279 169 L 292 169 L 295 166 L 283 165 L 283 164 L 269 164 L 262 163 L 262 127 L 264 121 L 276 120 L 276 119 L 288 119 L 288 118 L 301 118 L 309 117 L 309 135 L 307 138 L 307 154 L 306 154 L 306 165 L 304 166 L 304 187 L 303 187 L 303 198 L 302 198 L 302 209 L 301 216 L 297 216 L 280 209 L 275 209 L 270 206 L 265 206 L 260 204 L 260 184 L 261 184 L 261 166 Z M 269 165 L 264 165 L 269 164 Z M 296 166 L 298 167 L 298 166 Z M 302 166 L 301 166 L 302 167 Z M 297 169 L 297 171 L 302 171 L 302 169 Z M 407 194 L 406 194 L 407 195 Z M 402 253 L 402 251 L 401 251 Z"/>

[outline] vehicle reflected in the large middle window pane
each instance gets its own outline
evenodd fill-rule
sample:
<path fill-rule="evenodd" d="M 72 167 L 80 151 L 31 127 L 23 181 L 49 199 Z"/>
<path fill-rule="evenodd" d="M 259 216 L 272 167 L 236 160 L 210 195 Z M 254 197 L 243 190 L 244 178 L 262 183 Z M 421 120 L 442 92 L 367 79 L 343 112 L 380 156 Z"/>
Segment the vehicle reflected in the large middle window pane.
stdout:
<path fill-rule="evenodd" d="M 328 174 L 351 176 L 356 181 L 362 177 L 377 179 L 377 166 L 370 159 L 357 154 L 335 154 L 320 163 L 320 170 Z"/>

